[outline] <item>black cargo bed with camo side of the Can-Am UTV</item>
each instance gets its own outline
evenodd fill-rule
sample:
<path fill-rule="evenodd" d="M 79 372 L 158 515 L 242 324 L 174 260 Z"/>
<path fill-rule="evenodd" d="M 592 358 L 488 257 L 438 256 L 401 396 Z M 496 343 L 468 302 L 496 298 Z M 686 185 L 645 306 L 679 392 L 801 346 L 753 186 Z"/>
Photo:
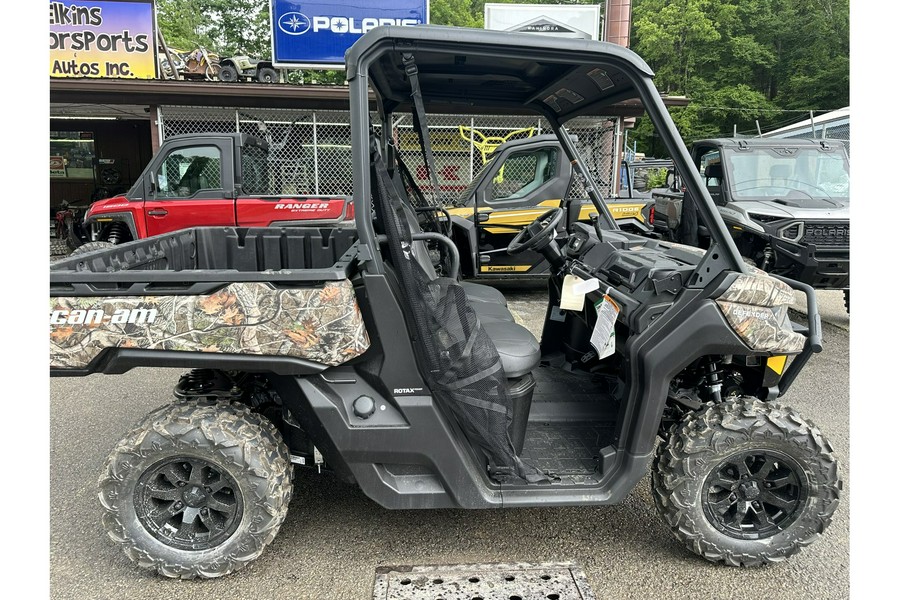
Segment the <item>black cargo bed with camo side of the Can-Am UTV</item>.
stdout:
<path fill-rule="evenodd" d="M 50 267 L 50 374 L 316 372 L 365 352 L 356 232 L 209 227 Z"/>

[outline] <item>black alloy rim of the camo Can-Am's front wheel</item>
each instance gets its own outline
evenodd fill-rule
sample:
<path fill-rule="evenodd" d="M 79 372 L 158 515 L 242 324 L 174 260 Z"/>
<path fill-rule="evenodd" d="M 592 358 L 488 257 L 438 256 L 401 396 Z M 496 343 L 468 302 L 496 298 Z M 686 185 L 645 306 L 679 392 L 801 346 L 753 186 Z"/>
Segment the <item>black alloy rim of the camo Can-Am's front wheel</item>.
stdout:
<path fill-rule="evenodd" d="M 729 537 L 757 540 L 784 531 L 809 496 L 797 462 L 772 450 L 751 450 L 723 460 L 703 484 L 703 511 Z"/>

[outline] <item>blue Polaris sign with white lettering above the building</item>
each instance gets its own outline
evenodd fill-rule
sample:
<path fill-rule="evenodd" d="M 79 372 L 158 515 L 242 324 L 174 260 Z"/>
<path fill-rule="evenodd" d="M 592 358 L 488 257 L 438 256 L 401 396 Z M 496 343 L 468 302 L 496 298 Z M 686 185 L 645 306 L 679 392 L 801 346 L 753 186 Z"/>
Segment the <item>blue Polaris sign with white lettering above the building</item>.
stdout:
<path fill-rule="evenodd" d="M 271 0 L 272 57 L 278 68 L 343 69 L 344 52 L 370 29 L 428 22 L 428 0 Z"/>

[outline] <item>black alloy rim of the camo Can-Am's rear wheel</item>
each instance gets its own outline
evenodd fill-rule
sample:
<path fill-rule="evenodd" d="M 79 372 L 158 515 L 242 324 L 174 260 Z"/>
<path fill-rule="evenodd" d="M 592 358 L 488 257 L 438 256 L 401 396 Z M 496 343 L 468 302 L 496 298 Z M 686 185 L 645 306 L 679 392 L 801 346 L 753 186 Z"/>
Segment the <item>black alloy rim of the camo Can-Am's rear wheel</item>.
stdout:
<path fill-rule="evenodd" d="M 243 500 L 234 478 L 213 463 L 173 457 L 138 480 L 135 513 L 156 539 L 181 550 L 208 550 L 237 530 Z"/>

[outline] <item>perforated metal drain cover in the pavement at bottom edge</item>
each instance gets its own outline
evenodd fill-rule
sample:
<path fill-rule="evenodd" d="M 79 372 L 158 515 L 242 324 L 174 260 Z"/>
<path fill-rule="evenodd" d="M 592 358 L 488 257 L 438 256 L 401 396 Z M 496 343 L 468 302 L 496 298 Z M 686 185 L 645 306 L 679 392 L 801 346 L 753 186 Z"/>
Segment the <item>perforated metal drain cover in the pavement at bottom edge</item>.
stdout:
<path fill-rule="evenodd" d="M 373 600 L 596 600 L 575 563 L 379 567 Z"/>

